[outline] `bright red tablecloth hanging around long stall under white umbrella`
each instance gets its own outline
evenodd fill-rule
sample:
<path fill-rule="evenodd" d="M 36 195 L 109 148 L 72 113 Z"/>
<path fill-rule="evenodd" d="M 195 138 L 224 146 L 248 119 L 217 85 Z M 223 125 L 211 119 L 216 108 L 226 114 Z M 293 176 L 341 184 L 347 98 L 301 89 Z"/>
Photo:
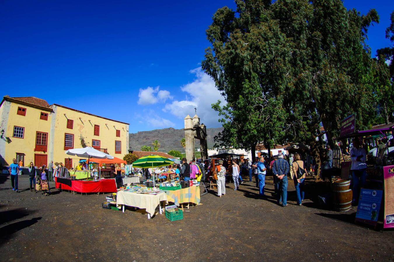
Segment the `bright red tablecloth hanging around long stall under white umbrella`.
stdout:
<path fill-rule="evenodd" d="M 101 179 L 100 181 L 71 180 L 71 187 L 58 183 L 55 178 L 55 185 L 58 189 L 71 190 L 79 193 L 110 193 L 116 192 L 115 179 Z"/>

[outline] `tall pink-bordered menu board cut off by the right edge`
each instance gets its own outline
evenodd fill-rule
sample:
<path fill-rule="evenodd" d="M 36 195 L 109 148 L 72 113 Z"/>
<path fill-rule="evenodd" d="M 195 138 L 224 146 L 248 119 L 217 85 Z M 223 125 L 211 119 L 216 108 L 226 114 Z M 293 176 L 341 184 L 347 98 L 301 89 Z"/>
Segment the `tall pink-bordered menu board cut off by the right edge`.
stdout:
<path fill-rule="evenodd" d="M 394 165 L 383 167 L 385 177 L 385 216 L 383 228 L 394 228 Z"/>

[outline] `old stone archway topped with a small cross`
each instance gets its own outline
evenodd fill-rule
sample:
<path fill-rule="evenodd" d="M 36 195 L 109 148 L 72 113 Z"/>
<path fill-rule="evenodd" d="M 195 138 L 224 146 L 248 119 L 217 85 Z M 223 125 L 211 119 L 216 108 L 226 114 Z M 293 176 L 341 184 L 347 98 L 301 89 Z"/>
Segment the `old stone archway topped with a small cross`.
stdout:
<path fill-rule="evenodd" d="M 196 115 L 193 118 L 187 115 L 184 118 L 185 121 L 185 150 L 186 159 L 188 161 L 195 159 L 195 140 L 200 140 L 200 151 L 201 160 L 208 159 L 208 143 L 206 141 L 206 126 L 204 124 L 200 125 L 200 118 Z"/>

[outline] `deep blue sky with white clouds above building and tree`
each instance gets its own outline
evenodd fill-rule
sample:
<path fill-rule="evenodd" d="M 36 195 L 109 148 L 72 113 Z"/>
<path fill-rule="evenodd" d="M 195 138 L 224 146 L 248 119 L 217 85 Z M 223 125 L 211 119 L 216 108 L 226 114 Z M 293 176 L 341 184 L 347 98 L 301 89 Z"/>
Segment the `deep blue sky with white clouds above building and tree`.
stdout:
<path fill-rule="evenodd" d="M 368 44 L 388 46 L 391 1 L 345 0 L 361 13 L 377 9 Z M 391 2 L 392 3 L 392 2 Z M 194 115 L 217 127 L 210 104 L 221 99 L 199 69 L 205 30 L 232 0 L 35 1 L 0 3 L 0 96 L 48 103 L 130 123 L 130 132 L 183 127 Z"/>

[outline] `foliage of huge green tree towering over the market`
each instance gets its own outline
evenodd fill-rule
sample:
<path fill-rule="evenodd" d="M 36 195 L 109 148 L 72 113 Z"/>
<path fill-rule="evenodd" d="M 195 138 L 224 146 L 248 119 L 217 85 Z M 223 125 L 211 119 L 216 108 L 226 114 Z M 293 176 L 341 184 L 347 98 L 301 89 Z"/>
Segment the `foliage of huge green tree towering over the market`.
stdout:
<path fill-rule="evenodd" d="M 214 14 L 206 31 L 212 47 L 202 63 L 226 98 L 227 105 L 214 108 L 221 115 L 230 112 L 222 145 L 316 144 L 320 123 L 332 143 L 341 119 L 352 113 L 359 129 L 372 124 L 373 75 L 365 39 L 368 26 L 379 20 L 375 10 L 361 15 L 340 0 L 235 2 L 236 11 L 223 7 Z M 248 84 L 258 92 L 245 99 Z M 266 104 L 245 110 L 238 106 L 242 100 Z M 234 117 L 242 112 L 245 117 Z M 264 113 L 268 121 L 255 117 Z"/>

